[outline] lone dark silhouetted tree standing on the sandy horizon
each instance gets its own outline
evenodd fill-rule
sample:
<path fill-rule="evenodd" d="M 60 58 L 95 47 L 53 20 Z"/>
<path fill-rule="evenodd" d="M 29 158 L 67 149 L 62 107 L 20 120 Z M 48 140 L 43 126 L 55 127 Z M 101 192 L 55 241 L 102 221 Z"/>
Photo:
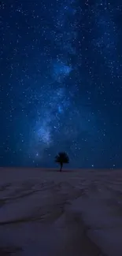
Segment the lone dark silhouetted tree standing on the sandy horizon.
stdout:
<path fill-rule="evenodd" d="M 57 162 L 61 165 L 61 168 L 60 168 L 60 172 L 61 172 L 63 164 L 69 163 L 68 154 L 65 152 L 59 152 L 55 157 L 55 162 Z"/>

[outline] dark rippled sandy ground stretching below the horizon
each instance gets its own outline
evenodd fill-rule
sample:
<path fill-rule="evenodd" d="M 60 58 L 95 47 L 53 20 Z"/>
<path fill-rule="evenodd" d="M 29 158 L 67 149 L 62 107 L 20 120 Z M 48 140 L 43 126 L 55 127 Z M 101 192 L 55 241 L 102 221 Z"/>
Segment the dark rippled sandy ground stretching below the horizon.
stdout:
<path fill-rule="evenodd" d="M 0 169 L 0 256 L 121 256 L 122 171 Z"/>

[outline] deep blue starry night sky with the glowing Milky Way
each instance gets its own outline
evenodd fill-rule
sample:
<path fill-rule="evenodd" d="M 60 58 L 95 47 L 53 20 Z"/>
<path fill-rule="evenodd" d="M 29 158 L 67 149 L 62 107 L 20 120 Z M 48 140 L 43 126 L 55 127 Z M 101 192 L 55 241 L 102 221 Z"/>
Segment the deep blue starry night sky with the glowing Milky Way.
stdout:
<path fill-rule="evenodd" d="M 0 1 L 0 165 L 122 167 L 122 1 Z"/>

